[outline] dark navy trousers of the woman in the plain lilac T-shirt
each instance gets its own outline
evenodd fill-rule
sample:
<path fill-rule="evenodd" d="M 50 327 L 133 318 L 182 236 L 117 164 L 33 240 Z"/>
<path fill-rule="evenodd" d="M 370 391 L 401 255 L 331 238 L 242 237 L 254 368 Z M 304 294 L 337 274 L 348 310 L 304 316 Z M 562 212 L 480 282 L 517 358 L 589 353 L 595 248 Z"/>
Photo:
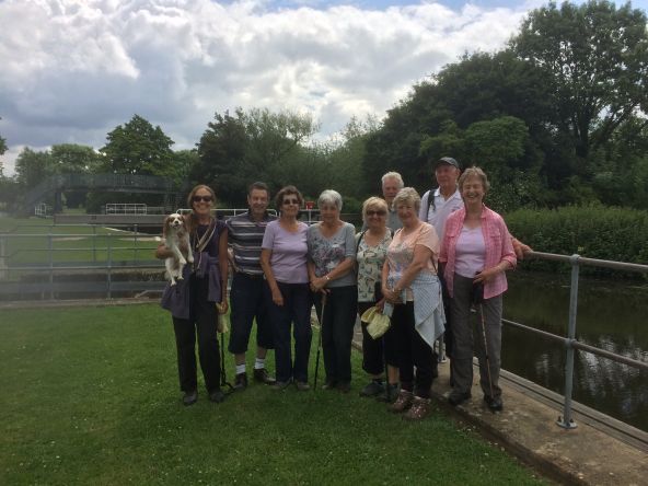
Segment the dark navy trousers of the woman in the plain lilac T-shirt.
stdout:
<path fill-rule="evenodd" d="M 267 282 L 264 286 L 268 316 L 275 337 L 275 366 L 277 381 L 309 381 L 309 356 L 311 354 L 311 292 L 308 284 L 284 284 L 278 281 L 284 296 L 284 305 L 273 302 Z M 290 327 L 294 336 L 294 362 L 290 347 Z"/>

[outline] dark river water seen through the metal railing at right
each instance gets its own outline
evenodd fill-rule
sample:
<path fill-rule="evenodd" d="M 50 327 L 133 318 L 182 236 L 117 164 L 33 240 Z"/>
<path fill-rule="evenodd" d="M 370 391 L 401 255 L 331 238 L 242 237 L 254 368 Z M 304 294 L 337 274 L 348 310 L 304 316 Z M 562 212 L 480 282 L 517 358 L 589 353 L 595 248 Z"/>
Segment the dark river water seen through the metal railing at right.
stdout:
<path fill-rule="evenodd" d="M 576 337 L 648 362 L 648 288 L 637 282 L 581 278 Z M 504 317 L 567 335 L 569 276 L 509 273 Z M 505 324 L 502 368 L 563 394 L 565 347 Z M 577 350 L 572 397 L 648 431 L 648 372 Z"/>

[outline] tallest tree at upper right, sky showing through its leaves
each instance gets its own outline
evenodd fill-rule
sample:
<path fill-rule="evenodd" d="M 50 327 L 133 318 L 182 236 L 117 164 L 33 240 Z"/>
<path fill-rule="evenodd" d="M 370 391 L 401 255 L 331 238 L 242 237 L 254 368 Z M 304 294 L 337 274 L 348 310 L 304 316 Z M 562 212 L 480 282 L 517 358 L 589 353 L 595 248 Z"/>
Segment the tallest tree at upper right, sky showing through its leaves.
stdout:
<path fill-rule="evenodd" d="M 511 48 L 551 73 L 557 128 L 571 139 L 581 174 L 590 152 L 648 113 L 646 14 L 629 2 L 552 2 L 529 14 Z"/>

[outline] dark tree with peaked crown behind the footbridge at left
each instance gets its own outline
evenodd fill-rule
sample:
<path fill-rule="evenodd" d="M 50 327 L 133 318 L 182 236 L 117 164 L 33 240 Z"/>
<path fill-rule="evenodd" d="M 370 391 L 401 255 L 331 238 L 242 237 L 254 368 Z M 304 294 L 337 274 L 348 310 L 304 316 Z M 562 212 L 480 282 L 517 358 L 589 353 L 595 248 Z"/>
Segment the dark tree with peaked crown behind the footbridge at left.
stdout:
<path fill-rule="evenodd" d="M 105 155 L 105 170 L 115 174 L 172 176 L 174 141 L 139 115 L 107 135 L 100 152 Z"/>

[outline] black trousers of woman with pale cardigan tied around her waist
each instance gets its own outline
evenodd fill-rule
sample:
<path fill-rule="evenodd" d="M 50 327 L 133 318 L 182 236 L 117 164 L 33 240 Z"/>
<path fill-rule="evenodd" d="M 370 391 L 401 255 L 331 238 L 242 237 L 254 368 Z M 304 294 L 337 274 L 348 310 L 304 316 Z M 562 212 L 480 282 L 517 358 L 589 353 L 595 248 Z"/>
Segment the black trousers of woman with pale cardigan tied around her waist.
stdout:
<path fill-rule="evenodd" d="M 420 337 L 414 324 L 414 302 L 394 305 L 392 329 L 398 349 L 401 387 L 421 398 L 429 398 L 432 386 L 432 348 Z"/>

